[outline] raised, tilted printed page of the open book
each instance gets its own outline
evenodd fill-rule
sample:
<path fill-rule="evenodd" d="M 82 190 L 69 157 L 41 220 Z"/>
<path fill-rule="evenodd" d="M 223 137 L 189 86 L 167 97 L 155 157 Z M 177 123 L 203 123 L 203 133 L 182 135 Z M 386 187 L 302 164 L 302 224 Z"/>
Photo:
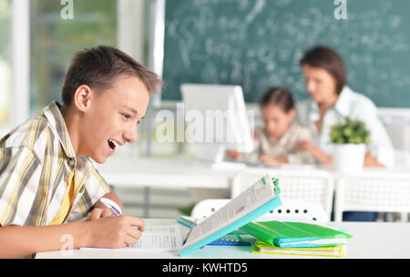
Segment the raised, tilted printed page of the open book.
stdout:
<path fill-rule="evenodd" d="M 238 221 L 252 210 L 256 210 L 264 203 L 272 200 L 274 196 L 274 185 L 269 175 L 266 175 L 220 210 L 215 211 L 209 218 L 194 226 L 183 248 L 188 248 L 190 245 L 210 236 L 210 234 L 231 225 L 231 223 Z"/>

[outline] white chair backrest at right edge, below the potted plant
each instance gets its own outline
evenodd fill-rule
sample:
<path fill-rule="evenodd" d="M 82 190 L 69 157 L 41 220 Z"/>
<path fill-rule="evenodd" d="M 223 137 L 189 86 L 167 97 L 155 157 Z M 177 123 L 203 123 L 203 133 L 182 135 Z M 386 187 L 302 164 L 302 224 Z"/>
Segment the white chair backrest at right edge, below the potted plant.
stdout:
<path fill-rule="evenodd" d="M 342 221 L 343 211 L 400 212 L 407 221 L 410 212 L 410 175 L 366 172 L 344 176 L 336 183 L 334 216 Z"/>

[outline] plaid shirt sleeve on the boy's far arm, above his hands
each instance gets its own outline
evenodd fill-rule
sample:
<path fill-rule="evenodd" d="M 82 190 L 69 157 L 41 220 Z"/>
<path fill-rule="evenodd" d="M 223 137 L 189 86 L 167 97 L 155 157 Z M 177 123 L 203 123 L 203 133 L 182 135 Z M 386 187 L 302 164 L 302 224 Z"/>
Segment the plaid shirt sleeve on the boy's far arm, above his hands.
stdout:
<path fill-rule="evenodd" d="M 90 162 L 91 164 L 91 162 Z M 108 183 L 98 170 L 91 164 L 87 171 L 87 180 L 82 188 L 82 196 L 74 203 L 74 206 L 67 217 L 67 221 L 78 221 L 85 218 L 93 209 L 97 200 L 100 200 L 104 195 L 110 192 L 111 189 Z"/>

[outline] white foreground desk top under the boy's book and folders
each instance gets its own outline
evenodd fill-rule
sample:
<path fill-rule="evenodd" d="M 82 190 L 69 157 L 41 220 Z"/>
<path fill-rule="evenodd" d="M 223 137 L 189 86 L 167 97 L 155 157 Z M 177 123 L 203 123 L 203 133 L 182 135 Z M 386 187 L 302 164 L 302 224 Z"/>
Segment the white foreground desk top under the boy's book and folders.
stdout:
<path fill-rule="evenodd" d="M 175 224 L 175 220 L 146 220 L 147 225 Z M 386 222 L 332 222 L 333 226 L 348 230 L 353 235 L 346 247 L 345 258 L 350 259 L 400 259 L 410 258 L 410 223 Z M 188 231 L 181 226 L 183 233 Z M 251 239 L 251 237 L 246 238 Z M 253 240 L 253 239 L 252 239 Z M 58 258 L 121 258 L 121 259 L 179 259 L 176 252 L 142 252 L 142 251 L 83 251 L 74 250 L 72 256 L 65 256 L 60 251 L 39 252 L 36 259 Z M 292 255 L 253 254 L 251 246 L 205 246 L 182 258 L 200 259 L 298 259 L 311 258 Z M 317 258 L 317 257 L 313 257 Z M 340 258 L 334 258 L 340 259 Z"/>

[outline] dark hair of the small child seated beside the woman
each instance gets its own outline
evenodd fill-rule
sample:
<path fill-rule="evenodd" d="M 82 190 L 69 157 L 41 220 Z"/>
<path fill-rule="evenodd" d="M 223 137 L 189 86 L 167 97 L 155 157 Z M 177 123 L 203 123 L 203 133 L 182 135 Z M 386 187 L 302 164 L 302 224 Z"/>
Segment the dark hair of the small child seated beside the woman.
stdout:
<path fill-rule="evenodd" d="M 291 90 L 287 87 L 272 87 L 268 89 L 261 97 L 260 105 L 263 108 L 270 104 L 278 105 L 288 113 L 294 108 Z"/>

